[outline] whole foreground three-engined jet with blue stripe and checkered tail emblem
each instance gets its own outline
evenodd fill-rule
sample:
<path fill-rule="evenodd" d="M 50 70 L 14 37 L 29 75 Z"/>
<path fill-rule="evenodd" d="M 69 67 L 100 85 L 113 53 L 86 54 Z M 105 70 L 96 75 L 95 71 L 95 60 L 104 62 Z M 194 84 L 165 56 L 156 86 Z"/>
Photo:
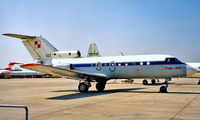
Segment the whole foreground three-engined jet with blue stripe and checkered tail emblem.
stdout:
<path fill-rule="evenodd" d="M 200 78 L 200 63 L 186 64 L 170 55 L 82 58 L 79 50 L 58 51 L 42 36 L 10 33 L 3 35 L 20 38 L 36 61 L 33 64 L 23 64 L 21 67 L 80 80 L 78 86 L 80 92 L 87 92 L 91 82 L 97 82 L 96 89 L 103 91 L 106 82 L 110 79 L 131 78 L 165 79 L 166 86 L 161 86 L 160 92 L 167 92 L 167 81 L 171 78 Z M 147 80 L 143 83 L 147 83 Z"/>

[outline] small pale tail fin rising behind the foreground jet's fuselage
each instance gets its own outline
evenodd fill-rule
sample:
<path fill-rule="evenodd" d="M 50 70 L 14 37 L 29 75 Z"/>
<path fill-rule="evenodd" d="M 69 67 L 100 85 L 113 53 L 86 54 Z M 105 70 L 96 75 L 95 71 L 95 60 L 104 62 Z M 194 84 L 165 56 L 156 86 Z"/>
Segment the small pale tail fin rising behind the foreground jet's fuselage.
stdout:
<path fill-rule="evenodd" d="M 87 57 L 100 57 L 99 50 L 95 43 L 90 44 Z"/>

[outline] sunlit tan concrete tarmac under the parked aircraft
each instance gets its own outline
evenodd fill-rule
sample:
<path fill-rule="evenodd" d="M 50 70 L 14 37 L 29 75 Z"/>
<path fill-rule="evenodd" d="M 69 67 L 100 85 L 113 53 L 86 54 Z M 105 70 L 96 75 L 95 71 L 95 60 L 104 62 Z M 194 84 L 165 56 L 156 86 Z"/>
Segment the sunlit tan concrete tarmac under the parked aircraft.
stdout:
<path fill-rule="evenodd" d="M 29 120 L 200 119 L 198 79 L 172 79 L 168 93 L 158 92 L 161 82 L 111 80 L 104 92 L 92 83 L 88 93 L 79 93 L 79 81 L 71 79 L 0 79 L 0 104 L 26 105 Z M 24 109 L 0 108 L 0 120 L 23 119 Z"/>

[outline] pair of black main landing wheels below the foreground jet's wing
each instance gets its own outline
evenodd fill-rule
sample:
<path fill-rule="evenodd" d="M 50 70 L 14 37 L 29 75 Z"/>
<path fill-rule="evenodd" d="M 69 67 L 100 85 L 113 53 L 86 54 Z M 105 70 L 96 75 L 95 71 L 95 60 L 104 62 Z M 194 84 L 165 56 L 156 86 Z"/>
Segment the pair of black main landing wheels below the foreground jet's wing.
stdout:
<path fill-rule="evenodd" d="M 96 89 L 98 92 L 103 92 L 106 86 L 106 81 L 102 80 L 102 81 L 97 81 L 96 84 Z M 85 82 L 80 82 L 79 86 L 78 86 L 78 90 L 81 93 L 85 93 L 88 92 L 89 87 L 91 87 L 91 83 L 90 81 L 85 81 Z"/>

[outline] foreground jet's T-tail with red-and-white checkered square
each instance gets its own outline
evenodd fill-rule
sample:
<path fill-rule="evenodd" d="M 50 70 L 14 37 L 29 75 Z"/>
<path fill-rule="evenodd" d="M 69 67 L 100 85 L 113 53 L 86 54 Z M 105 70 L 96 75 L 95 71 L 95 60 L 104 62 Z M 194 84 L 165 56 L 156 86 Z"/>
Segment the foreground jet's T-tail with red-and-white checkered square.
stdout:
<path fill-rule="evenodd" d="M 40 64 L 51 65 L 52 55 L 54 52 L 58 51 L 42 36 L 28 36 L 11 33 L 3 35 L 21 39 L 32 58 Z"/>

